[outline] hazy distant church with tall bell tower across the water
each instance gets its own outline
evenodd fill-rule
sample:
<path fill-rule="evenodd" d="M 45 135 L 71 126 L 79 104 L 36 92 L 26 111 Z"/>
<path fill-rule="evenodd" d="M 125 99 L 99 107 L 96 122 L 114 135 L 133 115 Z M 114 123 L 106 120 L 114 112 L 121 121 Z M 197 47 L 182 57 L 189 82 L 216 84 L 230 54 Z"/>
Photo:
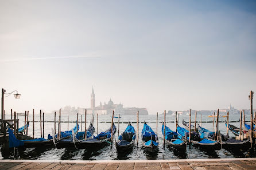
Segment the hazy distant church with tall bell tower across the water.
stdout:
<path fill-rule="evenodd" d="M 79 109 L 79 114 L 84 114 L 84 112 L 87 110 L 87 114 L 112 114 L 113 110 L 115 112 L 115 114 L 120 114 L 120 115 L 124 115 L 124 114 L 137 114 L 137 112 L 139 111 L 139 114 L 143 114 L 143 115 L 147 115 L 148 110 L 146 108 L 123 108 L 123 105 L 120 104 L 114 104 L 114 102 L 110 100 L 107 102 L 104 102 L 104 104 L 102 104 L 102 102 L 100 101 L 99 106 L 95 106 L 95 93 L 94 93 L 94 88 L 92 88 L 92 93 L 91 93 L 91 108 L 80 108 Z"/>

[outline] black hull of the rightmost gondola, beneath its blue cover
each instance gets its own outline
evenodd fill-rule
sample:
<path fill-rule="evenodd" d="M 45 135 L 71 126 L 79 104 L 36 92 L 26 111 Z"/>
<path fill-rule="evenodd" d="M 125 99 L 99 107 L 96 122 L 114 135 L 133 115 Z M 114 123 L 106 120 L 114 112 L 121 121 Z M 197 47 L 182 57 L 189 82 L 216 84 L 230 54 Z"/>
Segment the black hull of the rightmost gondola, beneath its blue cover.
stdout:
<path fill-rule="evenodd" d="M 244 140 L 237 143 L 222 142 L 222 147 L 227 150 L 243 150 L 246 151 L 252 147 L 250 140 Z"/>

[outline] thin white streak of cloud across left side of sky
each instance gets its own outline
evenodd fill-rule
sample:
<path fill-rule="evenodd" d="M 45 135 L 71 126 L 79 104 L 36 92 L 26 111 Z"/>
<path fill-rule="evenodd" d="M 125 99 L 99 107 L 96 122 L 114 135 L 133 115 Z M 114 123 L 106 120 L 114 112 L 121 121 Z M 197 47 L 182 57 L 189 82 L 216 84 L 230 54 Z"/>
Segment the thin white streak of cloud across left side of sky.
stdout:
<path fill-rule="evenodd" d="M 30 57 L 30 58 L 18 58 L 18 59 L 4 59 L 5 61 L 24 61 L 24 60 L 51 60 L 51 59 L 64 59 L 64 58 L 99 58 L 97 55 L 87 55 L 87 56 L 56 56 L 56 57 Z"/>

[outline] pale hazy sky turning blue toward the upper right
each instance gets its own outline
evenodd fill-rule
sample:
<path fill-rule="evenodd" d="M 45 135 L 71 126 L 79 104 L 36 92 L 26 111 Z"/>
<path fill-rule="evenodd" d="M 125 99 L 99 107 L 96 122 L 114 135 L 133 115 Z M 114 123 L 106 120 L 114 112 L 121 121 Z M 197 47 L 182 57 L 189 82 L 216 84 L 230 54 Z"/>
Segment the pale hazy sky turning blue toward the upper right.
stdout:
<path fill-rule="evenodd" d="M 0 0 L 7 112 L 249 109 L 255 64 L 255 1 Z"/>

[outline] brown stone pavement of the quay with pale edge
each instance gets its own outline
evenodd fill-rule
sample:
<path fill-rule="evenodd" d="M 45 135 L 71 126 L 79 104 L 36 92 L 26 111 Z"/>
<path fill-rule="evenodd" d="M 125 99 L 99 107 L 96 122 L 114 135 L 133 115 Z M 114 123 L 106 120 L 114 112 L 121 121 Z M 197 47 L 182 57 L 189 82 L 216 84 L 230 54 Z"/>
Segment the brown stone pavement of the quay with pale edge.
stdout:
<path fill-rule="evenodd" d="M 189 160 L 127 160 L 127 161 L 80 161 L 80 160 L 0 160 L 0 169 L 95 169 L 95 170 L 143 170 L 143 169 L 256 169 L 256 158 L 246 159 L 189 159 Z"/>

